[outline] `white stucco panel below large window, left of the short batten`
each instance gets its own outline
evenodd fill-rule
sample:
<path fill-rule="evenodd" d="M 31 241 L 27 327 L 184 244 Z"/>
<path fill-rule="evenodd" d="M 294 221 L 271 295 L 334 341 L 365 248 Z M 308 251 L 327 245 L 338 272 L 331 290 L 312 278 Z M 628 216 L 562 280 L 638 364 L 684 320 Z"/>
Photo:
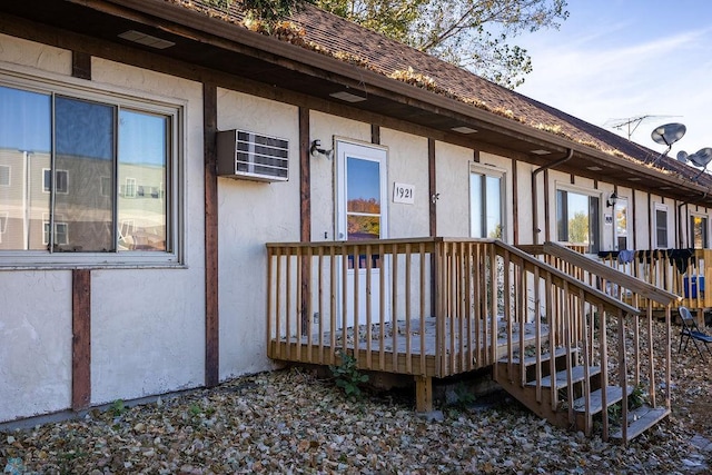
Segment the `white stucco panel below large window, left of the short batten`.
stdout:
<path fill-rule="evenodd" d="M 71 273 L 0 271 L 0 422 L 71 405 Z"/>

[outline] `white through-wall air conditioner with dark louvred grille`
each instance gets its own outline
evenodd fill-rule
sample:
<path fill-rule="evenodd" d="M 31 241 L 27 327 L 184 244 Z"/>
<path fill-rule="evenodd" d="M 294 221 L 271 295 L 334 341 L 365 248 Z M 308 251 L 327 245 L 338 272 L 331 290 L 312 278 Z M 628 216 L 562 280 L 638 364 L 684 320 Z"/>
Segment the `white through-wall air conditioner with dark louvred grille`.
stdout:
<path fill-rule="evenodd" d="M 289 141 L 245 130 L 218 132 L 218 175 L 258 181 L 287 181 Z"/>

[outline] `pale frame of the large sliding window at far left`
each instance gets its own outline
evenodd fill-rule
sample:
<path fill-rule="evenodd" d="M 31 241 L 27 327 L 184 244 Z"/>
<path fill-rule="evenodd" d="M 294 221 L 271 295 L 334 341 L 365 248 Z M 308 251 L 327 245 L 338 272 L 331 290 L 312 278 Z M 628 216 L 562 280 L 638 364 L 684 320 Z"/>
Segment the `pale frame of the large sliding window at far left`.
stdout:
<path fill-rule="evenodd" d="M 110 253 L 52 253 L 48 250 L 0 250 L 0 268 L 56 269 L 56 268 L 111 268 L 111 267 L 185 267 L 185 150 L 188 101 L 158 96 L 141 90 L 129 90 L 116 86 L 87 85 L 75 78 L 58 75 L 36 77 L 22 71 L 0 69 L 0 87 L 20 89 L 28 92 L 48 95 L 52 101 L 58 96 L 79 100 L 95 101 L 141 113 L 166 117 L 168 130 L 166 138 L 166 249 L 157 250 L 116 250 Z M 52 123 L 53 127 L 53 123 Z M 116 123 L 118 131 L 118 122 Z M 53 129 L 51 130 L 53 135 Z M 118 146 L 117 146 L 118 147 Z M 56 151 L 52 150 L 52 164 Z M 118 170 L 111 177 L 113 190 L 113 221 L 116 243 L 118 243 Z M 42 178 L 42 182 L 43 182 Z M 69 186 L 69 184 L 68 184 Z M 50 217 L 55 220 L 56 217 Z"/>

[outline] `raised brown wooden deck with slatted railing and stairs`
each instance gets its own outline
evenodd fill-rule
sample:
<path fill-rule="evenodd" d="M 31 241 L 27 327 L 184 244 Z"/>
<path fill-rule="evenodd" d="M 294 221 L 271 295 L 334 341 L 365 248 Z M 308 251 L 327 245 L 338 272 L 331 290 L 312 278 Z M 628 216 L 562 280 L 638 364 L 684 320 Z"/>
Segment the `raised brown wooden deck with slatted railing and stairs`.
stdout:
<path fill-rule="evenodd" d="M 678 296 L 578 253 L 421 238 L 275 243 L 267 255 L 267 353 L 275 360 L 338 365 L 344 352 L 363 370 L 412 375 L 417 410 L 433 407 L 433 378 L 492 368 L 533 412 L 585 434 L 632 387 L 647 394 L 655 417 L 645 420 L 669 414 Z M 602 277 L 631 301 L 603 291 Z M 665 309 L 668 337 L 651 344 L 653 303 Z M 655 360 L 659 345 L 666 362 Z M 621 437 L 640 431 L 630 423 Z M 607 417 L 602 436 L 612 436 Z"/>

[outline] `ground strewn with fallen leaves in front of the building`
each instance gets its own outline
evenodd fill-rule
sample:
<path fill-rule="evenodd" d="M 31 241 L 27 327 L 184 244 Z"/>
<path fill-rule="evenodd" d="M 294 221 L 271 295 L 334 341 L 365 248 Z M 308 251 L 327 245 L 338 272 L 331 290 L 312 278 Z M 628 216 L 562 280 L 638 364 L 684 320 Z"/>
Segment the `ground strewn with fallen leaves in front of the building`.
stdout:
<path fill-rule="evenodd" d="M 428 419 L 414 412 L 411 392 L 353 400 L 333 380 L 291 368 L 0 432 L 0 467 L 92 475 L 710 473 L 711 358 L 694 348 L 673 356 L 672 416 L 627 446 L 553 427 L 506 397 L 441 407 L 442 417 Z"/>

